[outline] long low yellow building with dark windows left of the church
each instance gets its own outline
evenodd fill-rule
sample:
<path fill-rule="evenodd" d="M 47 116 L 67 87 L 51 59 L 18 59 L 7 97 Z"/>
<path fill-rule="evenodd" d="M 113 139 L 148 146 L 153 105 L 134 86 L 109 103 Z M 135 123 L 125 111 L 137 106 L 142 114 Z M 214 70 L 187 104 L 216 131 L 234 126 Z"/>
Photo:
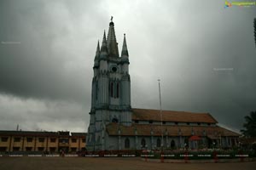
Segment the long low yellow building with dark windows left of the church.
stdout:
<path fill-rule="evenodd" d="M 86 133 L 0 131 L 0 152 L 42 151 L 55 153 L 61 150 L 85 150 Z"/>

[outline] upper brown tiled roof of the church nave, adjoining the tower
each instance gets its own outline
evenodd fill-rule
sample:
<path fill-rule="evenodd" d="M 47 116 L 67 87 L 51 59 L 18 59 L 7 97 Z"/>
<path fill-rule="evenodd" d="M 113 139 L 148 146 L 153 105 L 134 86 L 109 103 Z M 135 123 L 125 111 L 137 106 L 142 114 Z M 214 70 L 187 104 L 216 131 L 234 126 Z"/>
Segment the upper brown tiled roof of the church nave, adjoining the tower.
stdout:
<path fill-rule="evenodd" d="M 132 112 L 132 120 L 161 121 L 159 110 L 132 109 Z M 188 111 L 162 111 L 162 121 L 217 123 L 209 113 L 193 113 Z"/>

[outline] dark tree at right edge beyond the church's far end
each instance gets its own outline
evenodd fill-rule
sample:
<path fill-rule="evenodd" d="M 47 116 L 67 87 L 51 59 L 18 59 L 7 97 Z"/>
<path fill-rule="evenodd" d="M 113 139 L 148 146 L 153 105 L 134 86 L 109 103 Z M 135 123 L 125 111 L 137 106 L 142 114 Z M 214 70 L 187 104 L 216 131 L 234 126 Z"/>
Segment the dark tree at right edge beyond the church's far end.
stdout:
<path fill-rule="evenodd" d="M 243 127 L 246 129 L 242 129 L 241 133 L 248 137 L 256 137 L 256 111 L 252 111 L 250 116 L 244 118 L 246 122 L 243 123 Z"/>

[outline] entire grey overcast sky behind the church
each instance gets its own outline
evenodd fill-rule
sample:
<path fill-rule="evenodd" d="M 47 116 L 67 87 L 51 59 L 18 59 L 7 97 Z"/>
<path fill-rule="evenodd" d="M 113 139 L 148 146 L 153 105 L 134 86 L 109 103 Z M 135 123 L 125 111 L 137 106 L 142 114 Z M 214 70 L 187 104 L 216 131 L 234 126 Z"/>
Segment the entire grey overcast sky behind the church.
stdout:
<path fill-rule="evenodd" d="M 232 1 L 231 1 L 232 2 Z M 0 129 L 86 132 L 96 42 L 126 33 L 131 105 L 209 112 L 239 130 L 256 111 L 256 7 L 224 0 L 0 0 Z"/>

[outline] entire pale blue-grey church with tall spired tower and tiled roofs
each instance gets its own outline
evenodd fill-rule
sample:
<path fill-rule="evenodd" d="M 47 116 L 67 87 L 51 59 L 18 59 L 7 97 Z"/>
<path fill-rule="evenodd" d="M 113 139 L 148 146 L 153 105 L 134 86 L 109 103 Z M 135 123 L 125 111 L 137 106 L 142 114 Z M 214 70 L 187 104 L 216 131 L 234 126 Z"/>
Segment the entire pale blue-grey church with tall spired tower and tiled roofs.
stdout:
<path fill-rule="evenodd" d="M 230 148 L 239 133 L 219 127 L 209 113 L 131 108 L 129 53 L 119 54 L 113 20 L 94 59 L 87 150 Z"/>

